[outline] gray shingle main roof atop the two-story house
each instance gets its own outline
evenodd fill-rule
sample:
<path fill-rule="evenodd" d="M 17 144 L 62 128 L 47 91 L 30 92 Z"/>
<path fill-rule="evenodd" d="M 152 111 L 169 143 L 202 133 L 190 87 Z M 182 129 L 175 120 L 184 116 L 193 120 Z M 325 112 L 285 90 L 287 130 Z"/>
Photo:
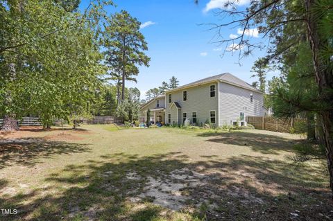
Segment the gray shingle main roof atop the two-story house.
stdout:
<path fill-rule="evenodd" d="M 251 85 L 249 85 L 244 80 L 241 80 L 241 79 L 237 78 L 236 76 L 233 76 L 231 73 L 221 73 L 221 74 L 218 74 L 216 76 L 203 78 L 201 80 L 191 82 L 187 85 L 182 85 L 182 86 L 177 87 L 176 89 L 173 89 L 173 90 L 182 89 L 184 87 L 191 87 L 192 85 L 193 86 L 194 85 L 201 85 L 201 84 L 205 84 L 206 82 L 212 82 L 214 80 L 222 80 L 222 81 L 225 81 L 225 82 L 230 82 L 231 84 L 239 85 L 240 87 L 244 87 L 244 88 L 247 88 L 247 89 L 250 89 L 250 90 L 255 90 L 255 91 L 261 92 L 258 89 L 256 89 L 255 87 L 252 87 Z M 173 90 L 171 90 L 171 91 L 173 91 Z"/>

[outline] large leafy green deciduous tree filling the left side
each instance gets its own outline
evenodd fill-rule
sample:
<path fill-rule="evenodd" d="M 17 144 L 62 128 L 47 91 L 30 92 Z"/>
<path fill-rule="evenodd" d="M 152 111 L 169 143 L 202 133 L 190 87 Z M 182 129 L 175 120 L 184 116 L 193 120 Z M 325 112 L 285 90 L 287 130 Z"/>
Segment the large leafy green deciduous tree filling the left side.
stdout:
<path fill-rule="evenodd" d="M 108 3 L 94 1 L 80 13 L 53 1 L 1 1 L 1 115 L 34 114 L 49 127 L 52 118 L 89 107 L 104 71 L 98 18 Z"/>

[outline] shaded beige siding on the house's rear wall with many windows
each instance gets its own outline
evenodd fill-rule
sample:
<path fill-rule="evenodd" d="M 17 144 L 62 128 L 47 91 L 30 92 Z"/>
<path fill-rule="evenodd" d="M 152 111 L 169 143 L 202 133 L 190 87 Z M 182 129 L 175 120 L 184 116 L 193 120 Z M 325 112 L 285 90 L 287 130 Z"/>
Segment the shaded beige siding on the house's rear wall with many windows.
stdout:
<path fill-rule="evenodd" d="M 210 97 L 210 85 L 216 85 L 216 93 L 215 97 Z M 182 91 L 187 91 L 187 100 L 182 100 Z M 196 112 L 196 122 L 197 123 L 205 123 L 207 119 L 210 119 L 210 111 L 215 110 L 216 111 L 216 125 L 217 120 L 219 119 L 219 112 L 218 112 L 218 91 L 217 91 L 217 82 L 205 84 L 205 85 L 199 85 L 196 87 L 190 87 L 187 89 L 179 90 L 179 91 L 172 91 L 167 92 L 166 98 L 167 98 L 167 104 L 166 104 L 166 117 L 168 113 L 171 113 L 172 121 L 176 121 L 176 117 L 174 116 L 176 114 L 176 111 L 173 109 L 176 109 L 176 107 L 172 107 L 170 109 L 170 105 L 172 103 L 169 103 L 169 94 L 171 94 L 172 103 L 178 102 L 181 109 L 179 111 L 178 115 L 178 123 L 182 123 L 182 113 L 187 112 L 187 118 L 192 122 L 192 112 Z M 172 112 L 171 112 L 172 111 Z M 175 113 L 173 113 L 175 112 Z M 171 122 L 172 122 L 171 121 Z M 166 119 L 167 122 L 167 119 Z"/>

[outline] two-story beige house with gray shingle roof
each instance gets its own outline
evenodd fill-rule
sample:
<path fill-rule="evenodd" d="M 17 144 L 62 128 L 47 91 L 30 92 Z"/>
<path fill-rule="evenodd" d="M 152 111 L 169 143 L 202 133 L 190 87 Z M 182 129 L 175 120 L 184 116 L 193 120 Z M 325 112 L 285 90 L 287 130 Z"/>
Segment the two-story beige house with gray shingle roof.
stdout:
<path fill-rule="evenodd" d="M 189 119 L 193 125 L 210 122 L 216 127 L 246 125 L 246 116 L 264 116 L 265 110 L 262 91 L 230 73 L 171 89 L 146 103 L 142 113 L 147 109 L 151 109 L 154 122 L 179 125 Z"/>

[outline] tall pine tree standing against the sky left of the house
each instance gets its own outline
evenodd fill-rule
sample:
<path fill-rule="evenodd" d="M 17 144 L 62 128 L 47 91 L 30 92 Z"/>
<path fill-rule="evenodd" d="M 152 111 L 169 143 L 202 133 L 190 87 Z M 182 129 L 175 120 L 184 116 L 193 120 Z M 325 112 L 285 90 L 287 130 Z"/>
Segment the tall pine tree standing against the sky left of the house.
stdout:
<path fill-rule="evenodd" d="M 144 35 L 140 33 L 140 22 L 125 10 L 112 15 L 105 26 L 106 62 L 121 76 L 121 100 L 125 99 L 126 80 L 135 80 L 139 74 L 137 65 L 148 67 L 150 58 Z"/>

